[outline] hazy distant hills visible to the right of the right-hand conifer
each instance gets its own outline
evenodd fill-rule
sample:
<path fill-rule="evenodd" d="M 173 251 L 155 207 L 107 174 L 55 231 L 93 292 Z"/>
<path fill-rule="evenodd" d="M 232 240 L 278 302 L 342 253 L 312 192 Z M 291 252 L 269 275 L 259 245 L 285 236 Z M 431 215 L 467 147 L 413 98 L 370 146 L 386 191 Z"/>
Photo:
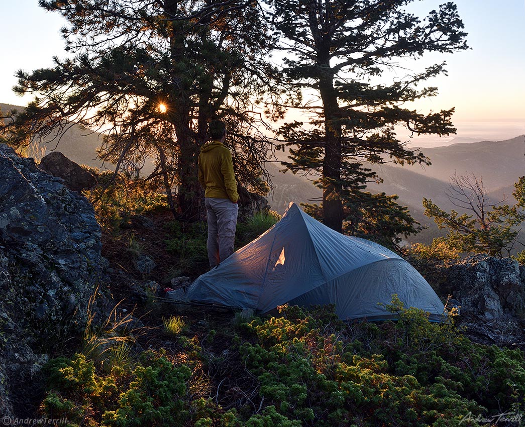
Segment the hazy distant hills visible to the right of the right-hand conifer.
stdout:
<path fill-rule="evenodd" d="M 492 202 L 506 199 L 505 203 L 515 203 L 512 197 L 514 182 L 525 175 L 525 135 L 505 141 L 459 142 L 421 151 L 430 158 L 432 165 L 424 168 L 421 165 L 377 165 L 374 170 L 384 183 L 368 186 L 372 192 L 397 194 L 398 203 L 408 206 L 417 221 L 430 227 L 413 237 L 413 242 L 429 243 L 433 237 L 444 235 L 444 231 L 438 231 L 434 222 L 423 214 L 423 197 L 432 199 L 445 211 L 461 212 L 445 193 L 454 173 L 459 176 L 474 172 L 483 181 Z"/>

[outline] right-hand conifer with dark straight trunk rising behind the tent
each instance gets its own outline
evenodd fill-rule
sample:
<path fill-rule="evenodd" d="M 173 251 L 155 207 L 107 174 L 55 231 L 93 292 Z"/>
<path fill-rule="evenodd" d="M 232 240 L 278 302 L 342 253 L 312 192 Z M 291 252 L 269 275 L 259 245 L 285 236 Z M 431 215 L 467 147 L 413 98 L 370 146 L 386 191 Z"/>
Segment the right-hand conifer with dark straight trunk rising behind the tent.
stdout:
<path fill-rule="evenodd" d="M 423 20 L 406 12 L 409 3 L 412 0 L 272 0 L 272 23 L 287 51 L 283 71 L 288 83 L 303 93 L 295 107 L 313 116 L 306 126 L 295 121 L 281 128 L 280 135 L 295 147 L 290 150 L 292 161 L 285 164 L 293 172 L 319 174 L 322 221 L 337 231 L 347 217 L 360 216 L 355 212 L 365 209 L 360 200 L 373 199 L 363 189 L 379 178 L 365 163 L 428 164 L 421 152 L 397 138 L 395 126 L 417 134 L 455 132 L 454 108 L 423 114 L 404 106 L 436 95 L 436 88 L 421 86 L 445 74 L 445 63 L 395 81 L 385 77 L 403 58 L 467 48 L 453 3 Z M 387 204 L 400 218 L 406 213 L 393 197 Z"/>

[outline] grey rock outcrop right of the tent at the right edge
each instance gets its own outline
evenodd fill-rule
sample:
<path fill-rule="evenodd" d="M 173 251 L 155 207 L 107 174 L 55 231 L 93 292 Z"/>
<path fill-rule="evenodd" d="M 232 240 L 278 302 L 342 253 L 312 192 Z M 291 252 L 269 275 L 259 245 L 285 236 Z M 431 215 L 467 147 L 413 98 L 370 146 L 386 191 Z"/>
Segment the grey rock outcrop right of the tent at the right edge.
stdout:
<path fill-rule="evenodd" d="M 525 319 L 525 266 L 514 259 L 475 255 L 432 276 L 439 277 L 438 293 L 459 301 L 462 315 Z"/>

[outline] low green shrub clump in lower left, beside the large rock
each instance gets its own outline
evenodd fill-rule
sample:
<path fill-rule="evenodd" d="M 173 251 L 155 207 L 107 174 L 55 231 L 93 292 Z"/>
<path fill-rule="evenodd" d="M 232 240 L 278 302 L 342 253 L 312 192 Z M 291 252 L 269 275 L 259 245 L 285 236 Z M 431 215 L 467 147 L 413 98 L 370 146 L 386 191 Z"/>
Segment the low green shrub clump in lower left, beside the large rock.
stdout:
<path fill-rule="evenodd" d="M 97 374 L 83 355 L 51 360 L 48 392 L 40 405 L 47 418 L 78 425 L 176 426 L 188 416 L 186 383 L 191 371 L 148 351 L 131 370 L 113 366 Z M 66 397 L 67 396 L 67 397 Z"/>

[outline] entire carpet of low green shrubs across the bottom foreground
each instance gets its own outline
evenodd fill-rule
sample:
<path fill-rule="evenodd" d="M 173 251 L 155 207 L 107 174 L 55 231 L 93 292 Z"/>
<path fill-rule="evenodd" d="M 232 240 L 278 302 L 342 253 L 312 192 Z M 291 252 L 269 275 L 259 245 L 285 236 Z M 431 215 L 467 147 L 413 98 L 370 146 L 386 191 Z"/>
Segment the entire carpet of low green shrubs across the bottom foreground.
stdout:
<path fill-rule="evenodd" d="M 473 343 L 454 316 L 429 322 L 395 295 L 386 308 L 397 321 L 345 323 L 332 306 L 282 306 L 280 317 L 234 331 L 180 336 L 172 357 L 183 365 L 162 351 L 110 369 L 97 357 L 55 359 L 41 415 L 93 427 L 475 427 L 506 412 L 519 425 L 522 351 Z"/>

